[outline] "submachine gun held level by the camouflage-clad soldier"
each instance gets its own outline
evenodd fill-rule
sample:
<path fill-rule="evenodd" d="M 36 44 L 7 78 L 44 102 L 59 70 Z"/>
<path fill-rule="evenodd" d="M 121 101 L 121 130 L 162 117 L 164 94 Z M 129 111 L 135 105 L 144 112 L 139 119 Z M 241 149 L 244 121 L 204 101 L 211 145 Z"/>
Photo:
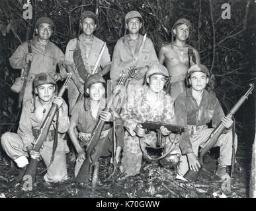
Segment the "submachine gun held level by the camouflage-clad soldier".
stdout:
<path fill-rule="evenodd" d="M 149 131 L 157 131 L 157 148 L 162 148 L 162 133 L 160 127 L 166 127 L 168 131 L 172 133 L 182 133 L 186 127 L 180 125 L 171 125 L 167 123 L 160 123 L 157 121 L 146 121 L 142 123 L 142 128 L 148 129 Z"/>

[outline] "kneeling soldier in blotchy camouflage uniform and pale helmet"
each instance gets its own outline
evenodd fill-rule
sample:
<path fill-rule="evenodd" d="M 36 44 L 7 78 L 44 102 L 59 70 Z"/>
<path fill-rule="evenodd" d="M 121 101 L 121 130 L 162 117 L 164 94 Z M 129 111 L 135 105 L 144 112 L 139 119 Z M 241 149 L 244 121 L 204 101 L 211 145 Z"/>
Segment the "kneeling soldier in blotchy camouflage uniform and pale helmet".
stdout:
<path fill-rule="evenodd" d="M 146 73 L 144 86 L 128 87 L 127 101 L 120 114 L 126 128 L 120 171 L 128 176 L 140 173 L 142 156 L 147 156 L 145 153 L 146 146 L 156 146 L 157 133 L 149 131 L 146 134 L 146 130 L 142 128 L 142 123 L 155 121 L 175 124 L 173 100 L 163 90 L 168 82 L 168 77 L 169 73 L 163 65 L 153 65 L 149 67 Z M 164 136 L 166 149 L 179 157 L 179 135 L 175 136 L 163 126 L 161 127 L 161 134 Z M 178 161 L 179 159 L 175 160 Z M 165 165 L 165 163 L 166 159 L 162 160 L 161 164 Z"/>

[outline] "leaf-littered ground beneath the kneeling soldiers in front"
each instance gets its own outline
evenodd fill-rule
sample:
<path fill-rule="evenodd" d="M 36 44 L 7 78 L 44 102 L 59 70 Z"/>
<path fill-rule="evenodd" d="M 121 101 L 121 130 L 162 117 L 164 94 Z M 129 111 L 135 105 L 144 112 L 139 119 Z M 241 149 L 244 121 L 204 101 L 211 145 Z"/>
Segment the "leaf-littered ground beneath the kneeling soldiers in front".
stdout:
<path fill-rule="evenodd" d="M 217 148 L 218 149 L 218 148 Z M 36 186 L 32 191 L 22 190 L 22 181 L 17 179 L 20 170 L 11 165 L 10 160 L 0 160 L 0 198 L 76 198 L 76 197 L 105 197 L 105 198 L 245 198 L 249 193 L 249 146 L 239 144 L 237 150 L 237 164 L 230 183 L 230 191 L 225 190 L 223 181 L 214 177 L 218 150 L 214 150 L 205 157 L 205 169 L 201 170 L 196 183 L 177 181 L 175 169 L 165 169 L 157 162 L 146 164 L 139 175 L 122 177 L 120 173 L 114 178 L 107 179 L 110 158 L 99 159 L 99 179 L 97 186 L 92 188 L 91 183 L 79 184 L 73 177 L 74 164 L 67 156 L 69 179 L 64 183 L 47 185 L 44 183 L 44 173 L 38 175 Z M 45 168 L 39 162 L 38 172 Z"/>

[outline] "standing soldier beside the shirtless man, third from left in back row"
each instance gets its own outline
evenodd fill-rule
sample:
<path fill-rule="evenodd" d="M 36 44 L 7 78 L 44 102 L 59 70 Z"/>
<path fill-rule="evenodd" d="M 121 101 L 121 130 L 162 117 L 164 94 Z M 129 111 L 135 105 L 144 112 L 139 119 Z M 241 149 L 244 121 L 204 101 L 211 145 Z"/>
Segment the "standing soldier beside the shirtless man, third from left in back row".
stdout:
<path fill-rule="evenodd" d="M 126 14 L 124 20 L 126 30 L 128 29 L 129 33 L 127 35 L 125 33 L 116 42 L 112 56 L 110 78 L 113 80 L 114 86 L 116 86 L 122 71 L 134 67 L 138 71 L 130 84 L 143 84 L 149 66 L 158 64 L 155 48 L 149 38 L 146 38 L 143 44 L 143 36 L 139 33 L 143 25 L 143 18 L 140 13 L 130 11 Z M 142 50 L 140 52 L 141 46 Z"/>

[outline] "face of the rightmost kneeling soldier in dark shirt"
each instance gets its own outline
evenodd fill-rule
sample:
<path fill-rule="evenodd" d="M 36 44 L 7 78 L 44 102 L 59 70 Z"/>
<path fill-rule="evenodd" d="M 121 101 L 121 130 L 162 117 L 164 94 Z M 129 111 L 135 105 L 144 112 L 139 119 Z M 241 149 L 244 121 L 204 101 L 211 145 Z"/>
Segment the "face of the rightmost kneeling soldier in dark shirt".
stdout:
<path fill-rule="evenodd" d="M 208 82 L 208 76 L 202 72 L 194 72 L 191 74 L 191 77 L 189 78 L 189 83 L 191 84 L 192 89 L 196 91 L 204 90 Z"/>

